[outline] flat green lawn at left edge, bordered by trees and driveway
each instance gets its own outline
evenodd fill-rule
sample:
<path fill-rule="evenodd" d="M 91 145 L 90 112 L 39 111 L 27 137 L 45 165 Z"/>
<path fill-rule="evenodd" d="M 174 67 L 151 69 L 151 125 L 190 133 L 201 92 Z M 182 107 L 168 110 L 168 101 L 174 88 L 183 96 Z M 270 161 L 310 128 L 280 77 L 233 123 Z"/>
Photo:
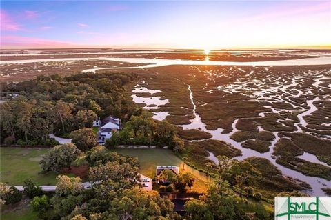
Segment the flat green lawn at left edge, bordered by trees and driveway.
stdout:
<path fill-rule="evenodd" d="M 50 150 L 41 148 L 0 148 L 1 182 L 8 185 L 22 185 L 26 178 L 37 184 L 54 185 L 58 174 L 48 172 L 39 174 L 41 155 Z"/>

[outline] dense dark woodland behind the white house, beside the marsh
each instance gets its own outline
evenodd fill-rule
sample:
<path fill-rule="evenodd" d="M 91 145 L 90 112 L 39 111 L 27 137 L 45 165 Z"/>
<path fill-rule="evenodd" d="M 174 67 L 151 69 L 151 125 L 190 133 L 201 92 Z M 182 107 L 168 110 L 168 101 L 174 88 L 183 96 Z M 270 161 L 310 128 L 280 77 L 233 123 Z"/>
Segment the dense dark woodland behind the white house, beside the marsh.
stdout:
<path fill-rule="evenodd" d="M 136 77 L 79 73 L 2 83 L 1 94 L 9 91 L 19 96 L 1 103 L 1 143 L 54 145 L 49 134 L 67 137 L 74 130 L 91 127 L 98 116 L 112 114 L 126 121 L 139 114 L 125 89 Z"/>

